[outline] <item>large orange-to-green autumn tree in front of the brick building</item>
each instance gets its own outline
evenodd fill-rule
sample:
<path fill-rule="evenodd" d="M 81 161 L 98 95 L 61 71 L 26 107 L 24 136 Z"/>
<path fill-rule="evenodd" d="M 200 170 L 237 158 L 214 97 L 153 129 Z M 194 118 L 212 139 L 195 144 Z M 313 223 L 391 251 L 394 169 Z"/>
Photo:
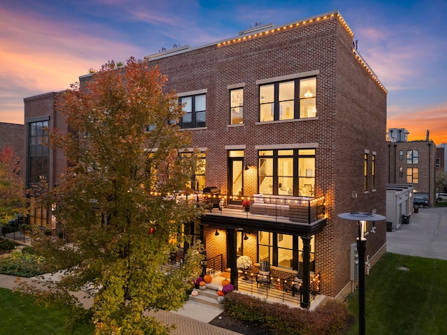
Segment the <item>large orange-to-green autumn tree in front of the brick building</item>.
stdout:
<path fill-rule="evenodd" d="M 198 243 L 181 269 L 161 270 L 177 247 L 191 243 L 184 223 L 203 213 L 197 201 L 177 196 L 191 181 L 196 154 L 180 154 L 191 136 L 179 131 L 182 107 L 165 82 L 147 61 L 105 65 L 85 87 L 66 91 L 59 110 L 71 131 L 51 135 L 68 168 L 43 201 L 75 248 L 38 237 L 38 248 L 68 269 L 52 295 L 41 295 L 71 305 L 75 316 L 85 313 L 70 291 L 90 292 L 95 334 L 167 334 L 145 311 L 180 308 L 200 273 Z"/>

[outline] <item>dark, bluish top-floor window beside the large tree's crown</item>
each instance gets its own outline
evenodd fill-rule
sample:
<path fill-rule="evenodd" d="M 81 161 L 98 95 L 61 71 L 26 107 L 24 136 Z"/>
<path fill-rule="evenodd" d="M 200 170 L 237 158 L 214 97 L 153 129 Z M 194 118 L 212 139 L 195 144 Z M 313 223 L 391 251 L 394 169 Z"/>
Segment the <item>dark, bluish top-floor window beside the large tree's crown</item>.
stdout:
<path fill-rule="evenodd" d="M 185 112 L 180 121 L 182 128 L 205 127 L 206 94 L 182 96 L 180 103 L 184 104 L 183 110 Z"/>

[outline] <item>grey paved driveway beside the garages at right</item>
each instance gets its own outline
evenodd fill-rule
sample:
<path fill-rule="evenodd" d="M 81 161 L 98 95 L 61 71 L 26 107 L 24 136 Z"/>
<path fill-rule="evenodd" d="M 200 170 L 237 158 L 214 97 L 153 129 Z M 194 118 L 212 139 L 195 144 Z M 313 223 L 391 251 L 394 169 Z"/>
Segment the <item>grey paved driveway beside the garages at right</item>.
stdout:
<path fill-rule="evenodd" d="M 408 225 L 386 233 L 386 251 L 447 260 L 447 207 L 420 208 Z"/>

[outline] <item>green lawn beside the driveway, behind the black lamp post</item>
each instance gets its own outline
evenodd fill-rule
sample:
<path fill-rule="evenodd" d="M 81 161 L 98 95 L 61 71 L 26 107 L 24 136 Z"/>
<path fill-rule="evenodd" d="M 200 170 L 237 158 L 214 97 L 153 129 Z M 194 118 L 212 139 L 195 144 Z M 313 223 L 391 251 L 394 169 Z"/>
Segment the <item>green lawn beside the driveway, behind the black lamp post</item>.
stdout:
<path fill-rule="evenodd" d="M 348 303 L 358 315 L 358 291 Z M 365 278 L 365 305 L 366 334 L 447 334 L 447 261 L 386 253 Z"/>

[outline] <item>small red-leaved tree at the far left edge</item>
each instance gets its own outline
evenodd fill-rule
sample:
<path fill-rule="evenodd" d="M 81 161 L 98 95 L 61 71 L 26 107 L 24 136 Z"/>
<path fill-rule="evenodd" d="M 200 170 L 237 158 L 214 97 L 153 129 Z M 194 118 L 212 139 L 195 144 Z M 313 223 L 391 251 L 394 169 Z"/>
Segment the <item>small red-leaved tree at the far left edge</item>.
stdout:
<path fill-rule="evenodd" d="M 0 225 L 7 225 L 16 214 L 26 211 L 27 201 L 20 168 L 20 158 L 13 147 L 3 147 L 0 151 Z"/>

